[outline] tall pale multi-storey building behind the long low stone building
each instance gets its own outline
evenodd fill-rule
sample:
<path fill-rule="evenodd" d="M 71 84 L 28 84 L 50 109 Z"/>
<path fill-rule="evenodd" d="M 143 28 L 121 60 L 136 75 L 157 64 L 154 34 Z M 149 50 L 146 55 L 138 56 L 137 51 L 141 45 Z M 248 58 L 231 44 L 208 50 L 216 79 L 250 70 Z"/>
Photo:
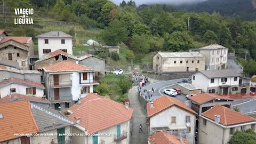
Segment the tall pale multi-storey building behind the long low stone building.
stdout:
<path fill-rule="evenodd" d="M 227 68 L 228 48 L 218 44 L 201 47 L 199 49 L 190 49 L 191 52 L 199 52 L 206 57 L 205 70 L 225 69 Z"/>

